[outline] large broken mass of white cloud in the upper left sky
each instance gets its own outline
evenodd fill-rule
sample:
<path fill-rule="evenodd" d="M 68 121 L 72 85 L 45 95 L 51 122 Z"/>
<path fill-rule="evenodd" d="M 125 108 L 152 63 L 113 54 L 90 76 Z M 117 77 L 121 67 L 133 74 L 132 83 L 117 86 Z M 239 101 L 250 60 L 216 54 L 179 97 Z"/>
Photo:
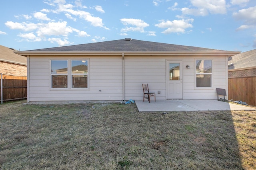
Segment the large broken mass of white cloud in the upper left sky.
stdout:
<path fill-rule="evenodd" d="M 68 36 L 75 33 L 76 37 L 90 37 L 91 35 L 84 31 L 80 31 L 76 28 L 69 26 L 67 21 L 59 20 L 54 21 L 48 16 L 48 13 L 53 13 L 55 16 L 58 14 L 64 14 L 68 19 L 77 21 L 87 21 L 94 27 L 102 27 L 104 29 L 109 29 L 104 26 L 102 19 L 100 17 L 94 16 L 89 12 L 84 10 L 78 10 L 76 8 L 84 9 L 86 6 L 82 6 L 82 0 L 75 0 L 74 5 L 66 3 L 65 0 L 44 0 L 44 3 L 51 6 L 51 9 L 42 9 L 40 12 L 33 12 L 31 15 L 18 15 L 15 16 L 17 19 L 40 20 L 37 23 L 31 22 L 13 22 L 6 21 L 5 25 L 9 29 L 18 29 L 20 33 L 18 37 L 20 41 L 51 41 L 51 43 L 58 43 L 58 45 L 70 44 L 68 41 Z M 98 12 L 104 13 L 101 6 L 94 6 Z M 95 11 L 94 11 L 95 12 Z M 57 16 L 58 17 L 58 16 Z M 87 26 L 86 26 L 87 27 Z M 5 34 L 0 31 L 0 34 Z M 94 37 L 96 41 L 103 41 L 105 37 Z"/>

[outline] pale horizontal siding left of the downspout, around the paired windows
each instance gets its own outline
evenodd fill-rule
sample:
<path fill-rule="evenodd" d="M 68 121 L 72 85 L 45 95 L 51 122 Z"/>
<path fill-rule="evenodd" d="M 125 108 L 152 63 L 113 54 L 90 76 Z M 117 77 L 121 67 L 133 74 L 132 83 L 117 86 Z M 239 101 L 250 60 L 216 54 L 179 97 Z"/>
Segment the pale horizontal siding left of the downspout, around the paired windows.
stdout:
<path fill-rule="evenodd" d="M 88 89 L 51 89 L 53 59 L 70 57 L 30 57 L 29 101 L 122 100 L 122 57 L 72 58 L 89 59 Z"/>

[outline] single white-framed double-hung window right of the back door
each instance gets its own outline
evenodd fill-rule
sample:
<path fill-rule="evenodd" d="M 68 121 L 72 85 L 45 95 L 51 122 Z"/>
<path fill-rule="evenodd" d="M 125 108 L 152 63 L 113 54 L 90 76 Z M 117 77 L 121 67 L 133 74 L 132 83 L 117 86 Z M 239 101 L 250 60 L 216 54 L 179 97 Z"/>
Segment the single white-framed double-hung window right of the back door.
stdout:
<path fill-rule="evenodd" d="M 212 87 L 212 60 L 196 60 L 196 87 Z"/>

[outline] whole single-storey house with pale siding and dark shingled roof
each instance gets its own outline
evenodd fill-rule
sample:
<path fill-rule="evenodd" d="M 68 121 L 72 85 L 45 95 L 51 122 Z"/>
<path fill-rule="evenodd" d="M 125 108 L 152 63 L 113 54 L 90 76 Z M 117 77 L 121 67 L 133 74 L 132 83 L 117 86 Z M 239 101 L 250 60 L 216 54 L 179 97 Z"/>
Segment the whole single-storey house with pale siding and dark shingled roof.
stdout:
<path fill-rule="evenodd" d="M 28 102 L 217 99 L 228 57 L 240 52 L 120 39 L 17 51 L 28 60 Z"/>

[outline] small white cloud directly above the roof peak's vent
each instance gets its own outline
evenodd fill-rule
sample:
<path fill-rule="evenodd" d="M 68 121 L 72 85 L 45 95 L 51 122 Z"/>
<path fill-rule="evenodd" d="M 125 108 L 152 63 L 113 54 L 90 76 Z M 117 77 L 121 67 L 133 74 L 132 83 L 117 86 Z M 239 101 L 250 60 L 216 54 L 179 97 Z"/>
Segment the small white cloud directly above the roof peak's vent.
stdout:
<path fill-rule="evenodd" d="M 148 27 L 149 24 L 144 22 L 143 20 L 140 19 L 133 19 L 133 18 L 122 18 L 120 19 L 120 21 L 124 24 L 124 25 L 133 25 L 135 27 L 125 27 L 122 28 L 121 31 L 122 32 L 128 32 L 128 31 L 139 31 L 139 32 L 145 32 L 144 28 Z"/>

